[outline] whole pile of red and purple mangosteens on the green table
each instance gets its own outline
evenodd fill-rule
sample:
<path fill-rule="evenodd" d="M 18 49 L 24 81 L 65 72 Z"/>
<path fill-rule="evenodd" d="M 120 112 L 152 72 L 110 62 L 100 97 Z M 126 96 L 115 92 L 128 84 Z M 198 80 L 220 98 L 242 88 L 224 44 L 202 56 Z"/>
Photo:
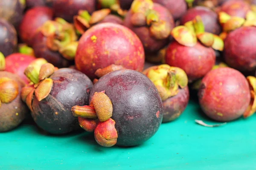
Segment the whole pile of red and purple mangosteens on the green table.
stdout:
<path fill-rule="evenodd" d="M 0 132 L 31 115 L 53 135 L 84 129 L 104 147 L 136 146 L 182 117 L 189 98 L 215 121 L 249 117 L 255 5 L 1 1 Z"/>

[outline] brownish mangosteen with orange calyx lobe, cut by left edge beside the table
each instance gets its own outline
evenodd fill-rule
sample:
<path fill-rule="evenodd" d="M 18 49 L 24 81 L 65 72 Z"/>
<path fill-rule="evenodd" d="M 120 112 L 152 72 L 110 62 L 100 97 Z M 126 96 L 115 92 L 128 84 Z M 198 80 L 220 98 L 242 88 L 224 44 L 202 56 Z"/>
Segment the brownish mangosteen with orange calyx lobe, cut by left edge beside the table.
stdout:
<path fill-rule="evenodd" d="M 14 129 L 26 118 L 29 109 L 20 97 L 24 85 L 17 75 L 0 71 L 0 132 Z"/>

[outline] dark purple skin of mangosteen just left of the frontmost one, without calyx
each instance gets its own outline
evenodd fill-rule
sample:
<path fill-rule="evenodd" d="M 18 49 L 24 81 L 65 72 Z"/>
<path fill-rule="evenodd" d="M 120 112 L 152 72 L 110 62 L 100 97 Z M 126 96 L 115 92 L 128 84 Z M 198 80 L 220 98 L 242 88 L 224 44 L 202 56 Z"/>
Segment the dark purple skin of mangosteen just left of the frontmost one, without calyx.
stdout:
<path fill-rule="evenodd" d="M 34 96 L 32 118 L 36 124 L 52 134 L 64 134 L 79 128 L 77 117 L 71 108 L 74 105 L 88 105 L 90 79 L 71 68 L 61 68 L 50 77 L 53 79 L 52 91 L 40 102 Z"/>

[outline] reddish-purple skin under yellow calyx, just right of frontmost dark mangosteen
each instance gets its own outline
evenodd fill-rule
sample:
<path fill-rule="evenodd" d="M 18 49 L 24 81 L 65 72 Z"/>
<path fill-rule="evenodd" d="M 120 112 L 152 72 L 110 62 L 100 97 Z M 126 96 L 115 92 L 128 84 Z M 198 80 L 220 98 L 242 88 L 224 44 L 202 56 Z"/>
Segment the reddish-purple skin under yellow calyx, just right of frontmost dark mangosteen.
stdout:
<path fill-rule="evenodd" d="M 189 102 L 189 88 L 179 89 L 178 94 L 163 101 L 163 122 L 177 119 Z"/>

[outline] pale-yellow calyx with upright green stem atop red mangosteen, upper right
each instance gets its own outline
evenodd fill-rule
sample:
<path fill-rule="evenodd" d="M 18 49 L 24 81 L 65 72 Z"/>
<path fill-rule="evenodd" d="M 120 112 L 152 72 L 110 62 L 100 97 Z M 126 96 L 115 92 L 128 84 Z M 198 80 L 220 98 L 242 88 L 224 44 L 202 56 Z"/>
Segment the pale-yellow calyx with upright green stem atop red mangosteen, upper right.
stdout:
<path fill-rule="evenodd" d="M 193 47 L 199 40 L 201 44 L 218 51 L 223 51 L 224 48 L 221 37 L 204 31 L 204 24 L 200 16 L 196 16 L 194 20 L 185 23 L 184 26 L 173 28 L 171 35 L 181 45 L 188 47 Z"/>

